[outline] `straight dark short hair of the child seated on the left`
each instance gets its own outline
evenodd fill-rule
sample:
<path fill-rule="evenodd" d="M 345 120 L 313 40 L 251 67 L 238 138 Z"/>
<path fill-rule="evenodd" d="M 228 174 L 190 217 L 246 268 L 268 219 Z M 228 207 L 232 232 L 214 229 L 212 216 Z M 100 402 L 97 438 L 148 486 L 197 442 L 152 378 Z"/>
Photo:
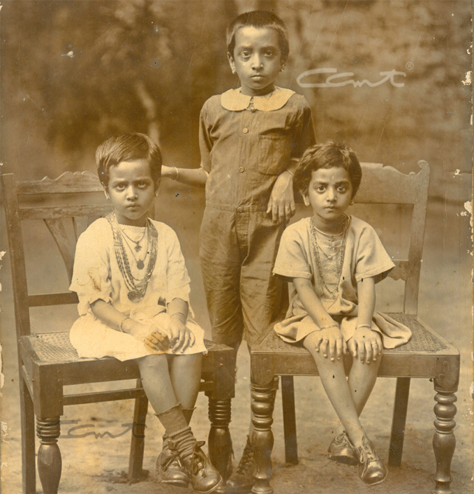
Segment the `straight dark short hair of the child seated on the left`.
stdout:
<path fill-rule="evenodd" d="M 143 133 L 123 133 L 105 140 L 96 151 L 97 174 L 101 184 L 109 184 L 110 167 L 122 161 L 148 161 L 151 177 L 158 189 L 161 178 L 161 151 L 153 140 Z"/>

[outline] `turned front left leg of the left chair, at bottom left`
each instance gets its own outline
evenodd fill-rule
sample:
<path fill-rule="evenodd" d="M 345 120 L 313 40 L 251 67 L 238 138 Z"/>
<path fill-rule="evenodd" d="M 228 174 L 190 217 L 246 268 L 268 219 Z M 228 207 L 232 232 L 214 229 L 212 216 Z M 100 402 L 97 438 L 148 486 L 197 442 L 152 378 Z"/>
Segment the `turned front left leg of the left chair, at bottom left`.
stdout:
<path fill-rule="evenodd" d="M 61 451 L 57 438 L 61 434 L 59 416 L 51 419 L 36 418 L 36 435 L 40 439 L 38 449 L 38 474 L 44 494 L 57 494 L 61 479 Z"/>

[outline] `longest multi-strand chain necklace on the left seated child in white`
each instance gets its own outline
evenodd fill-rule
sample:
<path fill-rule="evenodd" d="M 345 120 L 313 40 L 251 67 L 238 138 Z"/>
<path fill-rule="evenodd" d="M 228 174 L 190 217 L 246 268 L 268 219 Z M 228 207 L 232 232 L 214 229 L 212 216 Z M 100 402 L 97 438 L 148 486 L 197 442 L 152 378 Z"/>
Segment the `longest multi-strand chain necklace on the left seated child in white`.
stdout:
<path fill-rule="evenodd" d="M 145 296 L 151 273 L 153 273 L 155 267 L 158 232 L 156 231 L 156 228 L 151 223 L 151 221 L 147 219 L 147 228 L 145 231 L 148 232 L 147 242 L 149 249 L 149 261 L 144 277 L 142 277 L 142 279 L 137 279 L 133 277 L 131 272 L 130 263 L 128 262 L 128 256 L 124 247 L 124 239 L 121 235 L 122 232 L 117 221 L 117 217 L 115 217 L 114 213 L 111 212 L 109 215 L 107 215 L 107 219 L 110 223 L 110 226 L 112 226 L 112 234 L 114 235 L 115 256 L 117 258 L 117 264 L 119 265 L 120 273 L 124 278 L 125 285 L 128 289 L 128 298 L 132 302 L 140 302 L 140 300 L 142 300 L 142 298 Z"/>

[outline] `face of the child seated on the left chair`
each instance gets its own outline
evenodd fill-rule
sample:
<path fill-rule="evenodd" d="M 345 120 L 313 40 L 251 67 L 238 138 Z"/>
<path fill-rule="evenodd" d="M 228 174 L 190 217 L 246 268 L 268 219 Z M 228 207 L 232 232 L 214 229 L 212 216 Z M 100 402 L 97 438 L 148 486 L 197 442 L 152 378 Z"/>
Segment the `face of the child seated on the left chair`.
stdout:
<path fill-rule="evenodd" d="M 114 206 L 119 224 L 145 226 L 155 196 L 149 163 L 138 159 L 111 166 L 105 194 Z"/>

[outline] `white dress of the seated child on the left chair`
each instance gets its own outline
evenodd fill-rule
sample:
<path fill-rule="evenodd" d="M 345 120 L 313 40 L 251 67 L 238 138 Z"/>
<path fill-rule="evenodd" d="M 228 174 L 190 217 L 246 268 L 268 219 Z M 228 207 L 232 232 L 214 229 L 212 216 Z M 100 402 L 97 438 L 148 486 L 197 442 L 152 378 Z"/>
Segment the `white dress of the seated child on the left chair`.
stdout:
<path fill-rule="evenodd" d="M 107 219 L 94 221 L 77 240 L 73 279 L 69 289 L 75 291 L 79 298 L 77 310 L 80 317 L 71 328 L 70 339 L 80 357 L 112 356 L 126 361 L 151 354 L 142 341 L 114 330 L 97 319 L 90 307 L 95 300 L 102 299 L 120 312 L 149 325 L 150 333 L 158 326 L 169 337 L 167 303 L 174 298 L 189 303 L 190 279 L 177 235 L 169 226 L 150 221 L 158 232 L 156 263 L 145 296 L 140 302 L 132 302 L 128 298 L 128 289 L 114 252 L 112 227 Z M 133 240 L 140 240 L 145 233 L 145 227 L 120 227 Z M 141 245 L 147 245 L 146 236 Z M 131 249 L 125 248 L 133 277 L 141 279 L 147 270 L 148 257 L 145 259 L 145 268 L 139 270 Z M 143 255 L 138 252 L 136 258 L 142 259 Z M 192 315 L 191 307 L 189 312 Z M 183 354 L 205 353 L 204 330 L 191 319 L 191 315 L 188 316 L 186 327 L 194 333 L 196 341 Z M 172 351 L 165 353 L 172 354 Z"/>

